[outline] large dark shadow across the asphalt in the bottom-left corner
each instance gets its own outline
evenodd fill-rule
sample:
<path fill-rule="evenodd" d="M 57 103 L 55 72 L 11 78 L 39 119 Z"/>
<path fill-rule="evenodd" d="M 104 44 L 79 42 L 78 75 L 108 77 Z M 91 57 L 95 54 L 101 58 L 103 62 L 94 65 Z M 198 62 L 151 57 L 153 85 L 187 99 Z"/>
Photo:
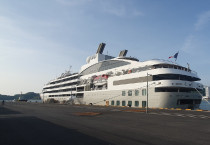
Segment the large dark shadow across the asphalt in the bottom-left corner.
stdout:
<path fill-rule="evenodd" d="M 68 129 L 36 117 L 0 117 L 0 144 L 111 145 L 74 129 Z"/>

